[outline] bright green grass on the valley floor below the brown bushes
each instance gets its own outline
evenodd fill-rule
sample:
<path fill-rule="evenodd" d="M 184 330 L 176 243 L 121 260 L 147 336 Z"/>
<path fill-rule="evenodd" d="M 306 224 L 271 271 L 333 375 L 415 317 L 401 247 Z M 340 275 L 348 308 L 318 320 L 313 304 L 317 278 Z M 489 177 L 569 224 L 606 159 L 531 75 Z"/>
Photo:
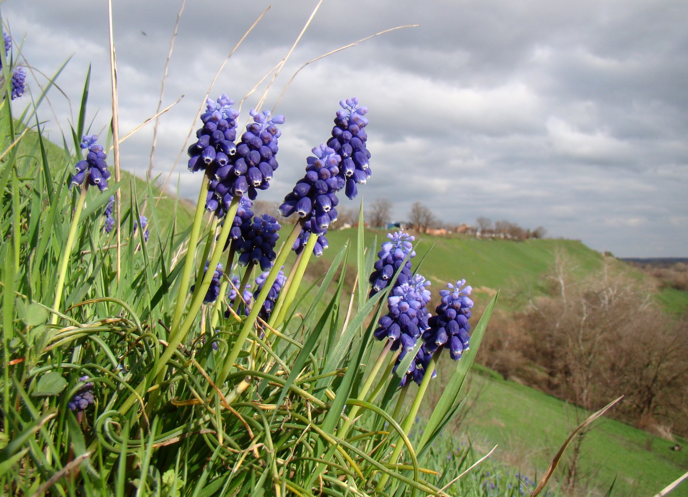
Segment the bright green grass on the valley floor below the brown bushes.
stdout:
<path fill-rule="evenodd" d="M 462 430 L 485 452 L 499 445 L 497 458 L 531 474 L 545 471 L 577 425 L 572 405 L 494 375 L 473 375 L 471 400 L 475 404 Z M 674 443 L 611 419 L 596 421 L 583 442 L 582 483 L 607 489 L 616 477 L 612 495 L 654 495 L 688 467 L 688 451 L 671 450 Z M 556 477 L 563 475 L 562 468 Z M 688 485 L 683 483 L 671 495 L 688 496 Z"/>

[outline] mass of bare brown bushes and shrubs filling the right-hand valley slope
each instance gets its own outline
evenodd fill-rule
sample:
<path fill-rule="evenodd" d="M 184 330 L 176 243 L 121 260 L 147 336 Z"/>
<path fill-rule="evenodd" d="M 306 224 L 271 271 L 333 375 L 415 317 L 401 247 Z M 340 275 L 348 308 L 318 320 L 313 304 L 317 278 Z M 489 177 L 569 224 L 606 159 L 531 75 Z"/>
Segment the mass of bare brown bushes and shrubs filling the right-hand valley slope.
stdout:
<path fill-rule="evenodd" d="M 559 260 L 549 295 L 493 316 L 478 359 L 586 409 L 623 394 L 623 421 L 687 435 L 688 316 L 666 315 L 653 288 L 608 268 L 583 281 L 571 273 Z"/>

